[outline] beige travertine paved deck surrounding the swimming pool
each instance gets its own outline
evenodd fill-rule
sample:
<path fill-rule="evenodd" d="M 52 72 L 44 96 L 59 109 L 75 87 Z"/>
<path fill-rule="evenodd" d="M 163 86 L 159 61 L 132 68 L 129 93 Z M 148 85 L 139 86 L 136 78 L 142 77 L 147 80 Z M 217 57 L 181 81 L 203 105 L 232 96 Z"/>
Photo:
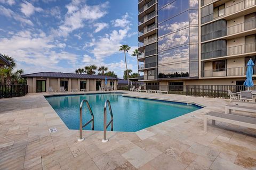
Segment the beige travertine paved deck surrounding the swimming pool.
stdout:
<path fill-rule="evenodd" d="M 77 142 L 78 130 L 43 95 L 0 99 L 0 169 L 256 169 L 255 130 L 209 121 L 203 131 L 202 115 L 223 112 L 228 99 L 130 92 L 205 107 L 138 132 L 107 132 L 102 143 L 102 131 L 83 131 Z"/>

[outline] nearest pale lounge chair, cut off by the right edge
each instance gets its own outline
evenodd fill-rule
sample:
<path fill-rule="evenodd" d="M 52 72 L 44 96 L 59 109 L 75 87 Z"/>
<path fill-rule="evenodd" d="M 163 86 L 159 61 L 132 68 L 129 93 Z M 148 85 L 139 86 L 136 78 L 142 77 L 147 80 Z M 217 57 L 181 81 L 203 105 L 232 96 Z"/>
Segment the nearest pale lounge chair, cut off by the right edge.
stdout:
<path fill-rule="evenodd" d="M 245 126 L 246 128 L 256 129 L 256 118 L 223 114 L 219 112 L 209 112 L 204 115 L 204 131 L 207 132 L 207 119 L 212 120 L 212 124 L 215 125 L 215 121 L 231 123 L 239 126 Z"/>

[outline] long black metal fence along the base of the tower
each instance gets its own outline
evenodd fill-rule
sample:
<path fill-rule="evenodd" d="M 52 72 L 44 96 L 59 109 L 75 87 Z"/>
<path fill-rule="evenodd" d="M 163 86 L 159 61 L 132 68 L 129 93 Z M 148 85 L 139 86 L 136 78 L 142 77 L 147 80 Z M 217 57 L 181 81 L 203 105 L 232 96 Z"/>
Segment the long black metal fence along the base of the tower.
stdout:
<path fill-rule="evenodd" d="M 133 86 L 118 85 L 117 90 L 130 90 Z M 135 86 L 136 89 L 139 86 Z M 178 94 L 197 97 L 229 98 L 228 90 L 239 92 L 247 90 L 243 85 L 141 85 L 141 89 L 168 91 L 169 94 Z M 256 85 L 249 88 L 256 90 Z"/>

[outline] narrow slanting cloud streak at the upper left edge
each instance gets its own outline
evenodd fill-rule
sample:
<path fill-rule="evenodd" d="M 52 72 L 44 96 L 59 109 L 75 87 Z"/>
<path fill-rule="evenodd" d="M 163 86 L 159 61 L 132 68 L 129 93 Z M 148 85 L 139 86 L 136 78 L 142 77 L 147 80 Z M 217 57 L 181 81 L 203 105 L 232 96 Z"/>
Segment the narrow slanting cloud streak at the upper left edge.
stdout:
<path fill-rule="evenodd" d="M 13 12 L 9 8 L 5 8 L 4 6 L 0 5 L 0 11 L 2 15 L 8 17 L 8 18 L 13 18 L 16 21 L 21 22 L 21 24 L 28 24 L 28 25 L 34 25 L 30 20 L 23 18 L 19 14 Z"/>

